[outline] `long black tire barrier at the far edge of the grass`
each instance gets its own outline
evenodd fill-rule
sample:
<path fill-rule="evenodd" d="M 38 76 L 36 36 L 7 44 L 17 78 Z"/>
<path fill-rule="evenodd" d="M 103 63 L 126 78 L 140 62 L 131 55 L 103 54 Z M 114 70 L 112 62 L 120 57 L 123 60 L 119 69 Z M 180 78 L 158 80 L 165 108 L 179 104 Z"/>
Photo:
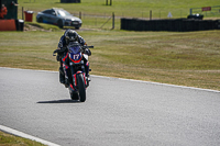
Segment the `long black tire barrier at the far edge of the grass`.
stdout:
<path fill-rule="evenodd" d="M 220 30 L 220 20 L 168 19 L 168 20 L 147 21 L 147 20 L 122 18 L 121 30 L 170 31 L 170 32 Z"/>

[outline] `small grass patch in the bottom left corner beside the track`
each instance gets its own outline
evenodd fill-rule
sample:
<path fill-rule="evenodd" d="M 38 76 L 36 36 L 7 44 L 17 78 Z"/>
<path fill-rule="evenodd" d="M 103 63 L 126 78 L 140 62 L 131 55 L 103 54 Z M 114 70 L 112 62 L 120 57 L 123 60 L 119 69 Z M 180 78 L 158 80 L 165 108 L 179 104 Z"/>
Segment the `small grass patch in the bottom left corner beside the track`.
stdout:
<path fill-rule="evenodd" d="M 0 146 L 44 146 L 41 143 L 6 134 L 0 131 Z"/>

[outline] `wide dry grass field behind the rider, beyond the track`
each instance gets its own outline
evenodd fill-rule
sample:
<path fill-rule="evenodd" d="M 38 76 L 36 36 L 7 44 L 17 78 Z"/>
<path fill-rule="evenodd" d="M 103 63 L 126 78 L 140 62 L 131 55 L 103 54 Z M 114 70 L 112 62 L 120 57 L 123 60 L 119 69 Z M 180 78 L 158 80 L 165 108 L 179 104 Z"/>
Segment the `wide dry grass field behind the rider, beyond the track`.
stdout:
<path fill-rule="evenodd" d="M 0 66 L 57 70 L 52 53 L 63 33 L 0 32 Z M 95 45 L 94 75 L 220 90 L 220 31 L 78 33 Z"/>

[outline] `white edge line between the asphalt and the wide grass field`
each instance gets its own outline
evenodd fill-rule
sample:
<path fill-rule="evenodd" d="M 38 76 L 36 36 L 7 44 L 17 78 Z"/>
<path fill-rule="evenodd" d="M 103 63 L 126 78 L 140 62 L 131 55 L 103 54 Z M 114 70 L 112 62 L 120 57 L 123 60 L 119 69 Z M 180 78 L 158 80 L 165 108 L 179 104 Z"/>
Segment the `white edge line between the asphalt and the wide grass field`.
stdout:
<path fill-rule="evenodd" d="M 22 68 L 10 68 L 10 67 L 0 67 L 0 68 L 7 68 L 7 69 L 19 69 L 19 70 L 33 70 L 33 69 L 22 69 Z M 50 70 L 34 70 L 34 71 L 43 71 L 43 72 L 58 72 L 58 71 L 50 71 Z M 202 88 L 196 88 L 196 87 L 186 87 L 186 86 L 176 86 L 176 85 L 168 85 L 168 83 L 161 83 L 161 82 L 153 82 L 153 81 L 144 81 L 144 80 L 135 80 L 135 79 L 124 79 L 124 78 L 116 78 L 116 77 L 107 77 L 107 76 L 98 76 L 98 75 L 90 75 L 91 77 L 98 77 L 98 78 L 113 78 L 113 79 L 120 79 L 120 80 L 127 80 L 127 81 L 135 81 L 135 82 L 143 82 L 143 83 L 152 83 L 157 86 L 167 86 L 167 87 L 175 87 L 175 88 L 184 88 L 184 89 L 193 89 L 193 90 L 200 90 L 200 91 L 208 91 L 208 92 L 216 92 L 220 93 L 218 90 L 211 90 L 211 89 L 202 89 Z"/>

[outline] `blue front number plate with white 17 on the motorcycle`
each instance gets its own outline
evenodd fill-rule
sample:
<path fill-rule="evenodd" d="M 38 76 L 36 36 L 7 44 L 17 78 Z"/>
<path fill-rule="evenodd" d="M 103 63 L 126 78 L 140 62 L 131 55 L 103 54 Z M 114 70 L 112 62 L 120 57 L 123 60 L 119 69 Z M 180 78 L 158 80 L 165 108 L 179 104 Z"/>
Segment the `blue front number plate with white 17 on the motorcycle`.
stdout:
<path fill-rule="evenodd" d="M 69 47 L 69 58 L 74 63 L 79 63 L 82 58 L 80 46 L 72 46 Z"/>

